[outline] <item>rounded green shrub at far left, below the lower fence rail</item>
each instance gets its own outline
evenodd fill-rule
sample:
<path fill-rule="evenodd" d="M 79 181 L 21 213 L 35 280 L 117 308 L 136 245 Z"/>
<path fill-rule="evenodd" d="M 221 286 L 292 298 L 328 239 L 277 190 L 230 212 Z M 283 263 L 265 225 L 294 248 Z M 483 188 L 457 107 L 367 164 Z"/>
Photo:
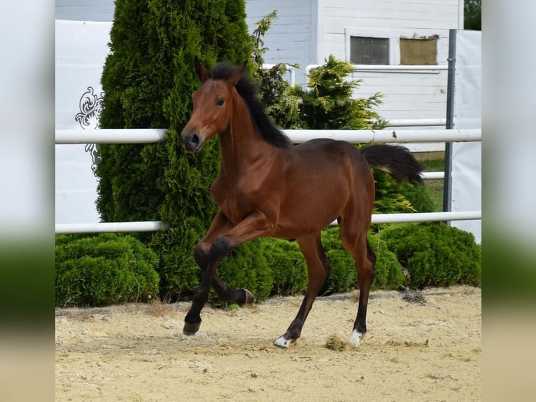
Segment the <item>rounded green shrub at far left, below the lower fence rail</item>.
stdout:
<path fill-rule="evenodd" d="M 157 255 L 132 236 L 57 236 L 58 307 L 146 302 L 157 296 Z"/>

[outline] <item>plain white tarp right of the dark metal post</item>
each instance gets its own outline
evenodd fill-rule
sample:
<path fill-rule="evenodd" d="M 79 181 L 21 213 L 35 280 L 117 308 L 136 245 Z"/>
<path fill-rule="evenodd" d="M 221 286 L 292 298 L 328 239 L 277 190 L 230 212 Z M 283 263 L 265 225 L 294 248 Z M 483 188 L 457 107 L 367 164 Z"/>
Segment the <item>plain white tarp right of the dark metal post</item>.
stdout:
<path fill-rule="evenodd" d="M 456 75 L 453 128 L 481 128 L 482 34 L 456 32 Z M 452 144 L 451 211 L 481 211 L 481 142 Z M 482 242 L 482 221 L 452 221 L 452 226 L 473 233 Z"/>

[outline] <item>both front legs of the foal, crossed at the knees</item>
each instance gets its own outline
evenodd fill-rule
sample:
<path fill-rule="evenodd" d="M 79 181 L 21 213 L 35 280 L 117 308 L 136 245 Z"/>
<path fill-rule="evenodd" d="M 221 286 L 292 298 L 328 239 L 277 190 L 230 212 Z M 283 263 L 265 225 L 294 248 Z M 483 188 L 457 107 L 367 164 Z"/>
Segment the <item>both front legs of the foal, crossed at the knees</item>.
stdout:
<path fill-rule="evenodd" d="M 218 212 L 209 232 L 196 247 L 196 261 L 202 269 L 203 266 L 205 268 L 201 284 L 194 292 L 192 305 L 184 319 L 183 333 L 185 335 L 194 335 L 199 330 L 199 326 L 201 326 L 201 310 L 206 301 L 209 300 L 211 284 L 215 286 L 218 294 L 221 294 L 227 300 L 237 300 L 239 303 L 253 303 L 255 297 L 250 291 L 247 289 L 230 289 L 217 277 L 216 269 L 220 261 L 229 254 L 233 247 L 260 237 L 270 227 L 265 214 L 262 214 L 262 212 L 255 212 L 249 215 L 234 227 L 222 212 Z M 209 244 L 213 237 L 216 237 L 216 240 L 211 244 L 208 254 L 206 254 L 206 244 Z"/>

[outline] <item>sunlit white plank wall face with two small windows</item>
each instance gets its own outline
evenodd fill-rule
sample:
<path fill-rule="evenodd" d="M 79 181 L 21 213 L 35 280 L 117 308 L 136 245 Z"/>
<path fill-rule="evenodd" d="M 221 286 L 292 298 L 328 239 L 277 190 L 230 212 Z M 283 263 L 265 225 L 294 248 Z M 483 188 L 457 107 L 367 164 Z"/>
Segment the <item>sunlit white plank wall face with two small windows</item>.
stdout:
<path fill-rule="evenodd" d="M 350 36 L 390 39 L 390 64 L 400 64 L 400 37 L 437 35 L 437 64 L 448 64 L 449 29 L 463 25 L 463 0 L 319 0 L 318 62 L 350 60 Z M 445 118 L 446 71 L 355 71 L 355 97 L 381 92 L 388 120 Z"/>

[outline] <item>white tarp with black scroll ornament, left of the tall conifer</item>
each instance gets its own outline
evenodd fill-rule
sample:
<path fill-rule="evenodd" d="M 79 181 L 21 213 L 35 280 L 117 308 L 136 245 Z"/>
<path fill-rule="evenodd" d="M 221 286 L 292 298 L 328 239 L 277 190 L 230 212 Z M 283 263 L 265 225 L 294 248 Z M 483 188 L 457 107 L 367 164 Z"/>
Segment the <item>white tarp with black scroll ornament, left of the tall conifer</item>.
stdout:
<path fill-rule="evenodd" d="M 111 22 L 56 20 L 56 129 L 94 129 Z M 55 223 L 97 223 L 94 144 L 56 145 Z"/>

